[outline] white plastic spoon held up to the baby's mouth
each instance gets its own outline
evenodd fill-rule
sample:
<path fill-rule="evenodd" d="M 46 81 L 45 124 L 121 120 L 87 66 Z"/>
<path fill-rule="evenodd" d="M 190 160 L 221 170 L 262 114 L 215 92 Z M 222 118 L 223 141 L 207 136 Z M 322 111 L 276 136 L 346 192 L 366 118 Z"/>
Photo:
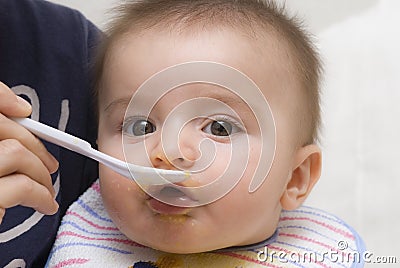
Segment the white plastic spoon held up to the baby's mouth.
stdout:
<path fill-rule="evenodd" d="M 126 163 L 92 148 L 90 143 L 73 135 L 49 127 L 29 118 L 11 118 L 37 137 L 61 147 L 94 159 L 126 178 L 131 178 L 141 185 L 168 184 L 188 179 L 190 173 L 176 170 L 156 169 Z"/>

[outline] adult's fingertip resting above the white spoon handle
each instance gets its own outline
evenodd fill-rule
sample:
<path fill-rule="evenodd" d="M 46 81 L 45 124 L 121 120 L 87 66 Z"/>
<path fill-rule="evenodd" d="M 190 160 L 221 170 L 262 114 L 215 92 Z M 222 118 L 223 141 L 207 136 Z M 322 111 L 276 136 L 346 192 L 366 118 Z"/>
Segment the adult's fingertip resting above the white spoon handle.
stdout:
<path fill-rule="evenodd" d="M 27 117 L 32 112 L 32 106 L 23 98 L 0 82 L 0 113 L 6 116 Z"/>

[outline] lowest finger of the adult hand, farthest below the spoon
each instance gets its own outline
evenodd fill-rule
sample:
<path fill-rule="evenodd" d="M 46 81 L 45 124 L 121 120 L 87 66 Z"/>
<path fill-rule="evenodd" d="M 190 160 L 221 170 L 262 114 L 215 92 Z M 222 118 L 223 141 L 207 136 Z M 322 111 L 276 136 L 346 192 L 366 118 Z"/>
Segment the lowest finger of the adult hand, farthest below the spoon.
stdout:
<path fill-rule="evenodd" d="M 46 187 L 23 174 L 11 174 L 0 179 L 0 207 L 17 205 L 34 208 L 46 215 L 58 210 L 57 202 Z"/>

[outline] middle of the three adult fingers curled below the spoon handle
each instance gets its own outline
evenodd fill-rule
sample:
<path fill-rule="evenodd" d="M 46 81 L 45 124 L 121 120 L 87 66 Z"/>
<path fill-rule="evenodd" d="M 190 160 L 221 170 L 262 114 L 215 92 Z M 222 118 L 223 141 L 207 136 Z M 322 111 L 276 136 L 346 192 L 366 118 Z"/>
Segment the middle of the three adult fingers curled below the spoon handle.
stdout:
<path fill-rule="evenodd" d="M 51 176 L 43 162 L 17 140 L 0 142 L 0 177 L 22 173 L 55 194 Z"/>

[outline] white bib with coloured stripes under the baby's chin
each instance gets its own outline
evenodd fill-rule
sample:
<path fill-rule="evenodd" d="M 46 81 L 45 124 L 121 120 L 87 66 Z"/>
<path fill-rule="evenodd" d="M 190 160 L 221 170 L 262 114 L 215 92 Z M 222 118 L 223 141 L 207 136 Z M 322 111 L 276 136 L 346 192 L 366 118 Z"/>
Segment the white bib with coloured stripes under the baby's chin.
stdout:
<path fill-rule="evenodd" d="M 283 211 L 273 239 L 258 248 L 170 254 L 122 234 L 103 207 L 98 181 L 67 211 L 46 267 L 363 267 L 365 246 L 341 219 L 300 207 Z"/>

